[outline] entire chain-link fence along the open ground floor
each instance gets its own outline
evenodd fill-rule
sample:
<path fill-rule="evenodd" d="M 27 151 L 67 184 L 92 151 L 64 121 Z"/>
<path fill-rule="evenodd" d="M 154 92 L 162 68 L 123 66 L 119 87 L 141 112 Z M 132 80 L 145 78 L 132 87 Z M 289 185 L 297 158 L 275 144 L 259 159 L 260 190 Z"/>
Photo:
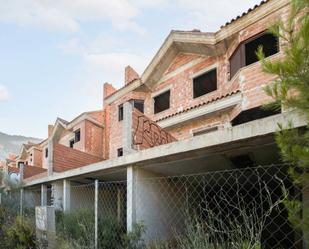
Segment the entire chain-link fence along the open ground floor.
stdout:
<path fill-rule="evenodd" d="M 67 210 L 57 205 L 57 239 L 52 244 L 99 249 L 306 248 L 305 235 L 288 219 L 286 201 L 300 201 L 308 208 L 309 186 L 294 185 L 288 168 L 176 176 L 144 168 L 137 169 L 133 182 L 72 181 Z M 56 189 L 50 191 L 54 204 Z M 40 204 L 39 190 L 24 190 L 23 195 L 23 210 Z M 20 209 L 18 197 L 16 204 Z M 302 217 L 302 211 L 298 215 Z"/>

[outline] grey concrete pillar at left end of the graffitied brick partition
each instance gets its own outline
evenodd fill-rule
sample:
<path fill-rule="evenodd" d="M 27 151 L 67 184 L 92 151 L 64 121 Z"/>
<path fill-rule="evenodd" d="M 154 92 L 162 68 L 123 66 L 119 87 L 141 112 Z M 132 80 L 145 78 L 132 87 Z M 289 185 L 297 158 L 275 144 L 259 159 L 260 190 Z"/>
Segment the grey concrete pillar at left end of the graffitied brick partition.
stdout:
<path fill-rule="evenodd" d="M 132 114 L 133 106 L 130 102 L 123 104 L 123 127 L 122 127 L 122 148 L 123 155 L 128 155 L 134 150 L 132 148 Z"/>

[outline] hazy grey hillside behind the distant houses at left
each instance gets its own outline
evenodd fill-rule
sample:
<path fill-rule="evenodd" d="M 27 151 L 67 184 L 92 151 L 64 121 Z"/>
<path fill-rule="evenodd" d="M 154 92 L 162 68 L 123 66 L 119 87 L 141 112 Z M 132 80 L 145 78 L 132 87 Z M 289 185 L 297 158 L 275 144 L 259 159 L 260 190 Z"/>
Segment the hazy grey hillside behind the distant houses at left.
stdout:
<path fill-rule="evenodd" d="M 38 143 L 41 140 L 33 137 L 8 135 L 0 132 L 0 160 L 4 160 L 9 153 L 18 154 L 20 146 L 28 141 Z"/>

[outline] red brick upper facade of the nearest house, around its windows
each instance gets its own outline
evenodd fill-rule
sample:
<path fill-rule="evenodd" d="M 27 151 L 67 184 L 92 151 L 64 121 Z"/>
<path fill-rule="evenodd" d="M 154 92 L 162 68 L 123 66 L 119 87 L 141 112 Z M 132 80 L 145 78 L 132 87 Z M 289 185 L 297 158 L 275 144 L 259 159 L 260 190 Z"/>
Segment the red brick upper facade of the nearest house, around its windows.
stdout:
<path fill-rule="evenodd" d="M 267 30 L 269 25 L 282 16 L 286 18 L 289 7 L 284 7 L 256 23 L 247 26 L 240 32 L 233 34 L 234 41 L 229 44 L 227 52 L 220 56 L 206 56 L 194 54 L 179 54 L 173 60 L 166 72 L 162 75 L 157 85 L 147 93 L 130 92 L 113 102 L 110 105 L 110 157 L 115 157 L 117 148 L 122 146 L 122 122 L 118 122 L 118 105 L 132 99 L 133 95 L 139 95 L 145 99 L 145 115 L 151 120 L 159 120 L 163 117 L 174 114 L 182 109 L 196 106 L 216 97 L 225 96 L 227 93 L 240 90 L 243 100 L 234 109 L 225 113 L 217 113 L 210 117 L 201 117 L 188 124 L 180 124 L 177 127 L 168 129 L 177 139 L 187 139 L 192 136 L 192 130 L 207 128 L 213 125 L 223 126 L 231 121 L 242 110 L 261 106 L 271 99 L 264 93 L 263 87 L 271 82 L 274 77 L 261 70 L 259 62 L 243 67 L 234 75 L 229 77 L 229 58 L 239 44 L 262 31 Z M 223 28 L 225 29 L 225 28 Z M 221 31 L 219 31 L 221 32 Z M 231 34 L 232 35 L 232 34 Z M 274 55 L 268 59 L 280 58 L 282 54 Z M 217 68 L 217 90 L 198 98 L 193 98 L 194 75 L 204 71 L 206 68 L 216 66 Z M 165 88 L 171 89 L 170 108 L 158 114 L 153 113 L 153 96 Z M 136 96 L 134 96 L 136 97 Z"/>

